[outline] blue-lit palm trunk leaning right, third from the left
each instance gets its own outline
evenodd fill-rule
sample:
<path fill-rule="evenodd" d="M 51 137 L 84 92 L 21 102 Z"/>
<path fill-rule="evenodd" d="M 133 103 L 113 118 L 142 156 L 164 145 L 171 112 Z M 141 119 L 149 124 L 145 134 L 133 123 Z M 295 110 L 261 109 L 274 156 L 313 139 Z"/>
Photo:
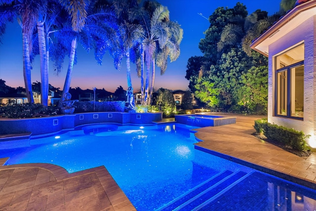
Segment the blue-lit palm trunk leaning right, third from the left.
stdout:
<path fill-rule="evenodd" d="M 58 107 L 61 107 L 61 101 L 65 100 L 64 98 L 65 93 L 69 92 L 71 77 L 73 75 L 73 69 L 74 69 L 76 48 L 77 48 L 77 38 L 74 38 L 74 40 L 71 42 L 71 51 L 70 51 L 70 56 L 69 56 L 68 70 L 67 70 L 63 93 L 59 100 Z"/>

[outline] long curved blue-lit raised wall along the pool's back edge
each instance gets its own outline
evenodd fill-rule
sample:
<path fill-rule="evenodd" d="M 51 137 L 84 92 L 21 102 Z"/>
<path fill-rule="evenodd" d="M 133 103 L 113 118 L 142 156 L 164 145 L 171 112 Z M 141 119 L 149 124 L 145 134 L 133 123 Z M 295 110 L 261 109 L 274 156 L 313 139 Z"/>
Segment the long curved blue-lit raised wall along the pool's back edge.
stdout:
<path fill-rule="evenodd" d="M 5 134 L 32 133 L 41 135 L 74 129 L 77 126 L 98 123 L 152 124 L 162 120 L 162 113 L 99 112 L 60 115 L 28 119 L 0 119 L 0 136 Z"/>

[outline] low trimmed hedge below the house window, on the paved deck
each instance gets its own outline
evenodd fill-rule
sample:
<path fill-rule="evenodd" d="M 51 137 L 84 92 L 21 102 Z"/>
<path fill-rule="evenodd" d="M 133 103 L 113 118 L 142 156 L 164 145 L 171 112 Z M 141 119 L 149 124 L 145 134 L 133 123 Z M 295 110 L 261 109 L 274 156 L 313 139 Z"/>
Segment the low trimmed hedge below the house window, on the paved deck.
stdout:
<path fill-rule="evenodd" d="M 276 124 L 268 123 L 267 119 L 256 120 L 254 128 L 258 133 L 263 133 L 269 140 L 291 146 L 298 151 L 310 150 L 306 143 L 306 139 L 310 135 L 305 135 L 303 131 L 277 126 Z"/>

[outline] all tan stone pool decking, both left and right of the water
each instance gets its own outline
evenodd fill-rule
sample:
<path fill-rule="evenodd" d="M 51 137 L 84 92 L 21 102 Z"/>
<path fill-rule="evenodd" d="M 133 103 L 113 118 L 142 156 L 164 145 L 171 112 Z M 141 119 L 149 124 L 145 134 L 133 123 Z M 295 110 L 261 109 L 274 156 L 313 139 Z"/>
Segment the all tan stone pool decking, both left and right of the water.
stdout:
<path fill-rule="evenodd" d="M 221 157 L 316 185 L 316 153 L 303 159 L 254 137 L 254 120 L 260 118 L 237 116 L 233 125 L 198 128 L 195 134 L 203 141 L 196 145 Z M 2 166 L 6 160 L 0 159 L 0 210 L 136 210 L 104 167 L 68 173 L 51 164 Z"/>

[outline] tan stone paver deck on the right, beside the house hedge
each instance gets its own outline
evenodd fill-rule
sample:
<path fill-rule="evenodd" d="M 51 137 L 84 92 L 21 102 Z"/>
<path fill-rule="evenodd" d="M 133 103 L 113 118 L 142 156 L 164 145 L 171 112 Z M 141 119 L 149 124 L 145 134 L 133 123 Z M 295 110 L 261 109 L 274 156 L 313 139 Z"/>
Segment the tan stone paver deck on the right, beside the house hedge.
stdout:
<path fill-rule="evenodd" d="M 256 138 L 252 135 L 255 132 L 253 125 L 255 120 L 261 118 L 261 116 L 237 116 L 237 122 L 233 125 L 198 128 L 196 129 L 198 132 L 195 135 L 203 141 L 198 142 L 197 146 L 219 152 L 225 156 L 240 159 L 259 167 L 272 169 L 276 172 L 259 168 L 269 173 L 276 173 L 277 176 L 285 174 L 285 179 L 292 179 L 286 176 L 290 175 L 312 182 L 313 184 L 305 184 L 302 181 L 302 184 L 316 187 L 316 153 L 313 152 L 305 160 L 273 144 Z"/>

